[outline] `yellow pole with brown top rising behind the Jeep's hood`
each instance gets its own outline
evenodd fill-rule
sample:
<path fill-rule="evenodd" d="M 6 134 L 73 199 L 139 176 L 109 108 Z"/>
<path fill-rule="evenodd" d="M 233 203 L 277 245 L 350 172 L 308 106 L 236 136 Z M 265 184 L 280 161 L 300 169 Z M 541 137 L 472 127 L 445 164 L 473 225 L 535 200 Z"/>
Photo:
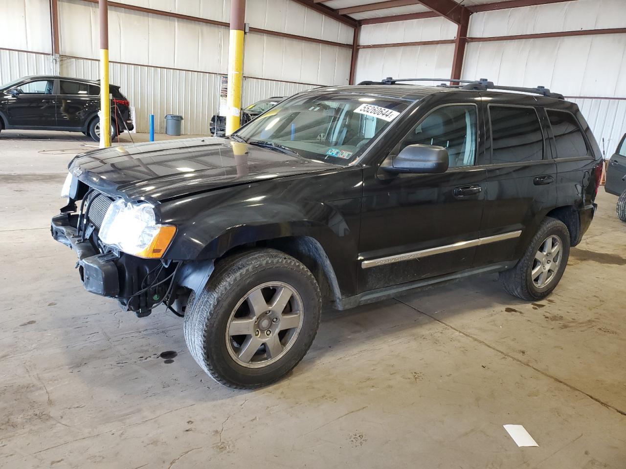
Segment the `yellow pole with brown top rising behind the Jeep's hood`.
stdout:
<path fill-rule="evenodd" d="M 240 127 L 241 88 L 244 73 L 245 0 L 230 3 L 230 41 L 228 41 L 228 91 L 226 95 L 226 134 Z"/>

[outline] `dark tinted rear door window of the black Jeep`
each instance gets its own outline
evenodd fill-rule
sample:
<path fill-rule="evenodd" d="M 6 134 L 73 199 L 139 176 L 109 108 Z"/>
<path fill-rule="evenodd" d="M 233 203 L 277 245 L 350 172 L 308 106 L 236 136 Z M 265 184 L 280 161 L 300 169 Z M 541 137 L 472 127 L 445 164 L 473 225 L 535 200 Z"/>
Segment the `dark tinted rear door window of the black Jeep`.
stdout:
<path fill-rule="evenodd" d="M 489 106 L 491 163 L 523 163 L 543 159 L 543 132 L 535 108 Z"/>

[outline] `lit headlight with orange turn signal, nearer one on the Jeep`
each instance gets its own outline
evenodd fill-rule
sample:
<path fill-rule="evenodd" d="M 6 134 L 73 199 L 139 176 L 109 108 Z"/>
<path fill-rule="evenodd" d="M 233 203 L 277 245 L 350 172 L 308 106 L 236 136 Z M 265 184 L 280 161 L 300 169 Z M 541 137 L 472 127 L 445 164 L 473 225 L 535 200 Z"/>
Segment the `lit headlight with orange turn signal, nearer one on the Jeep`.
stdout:
<path fill-rule="evenodd" d="M 172 224 L 156 224 L 154 207 L 148 203 L 113 202 L 100 228 L 100 240 L 127 254 L 160 258 L 176 233 Z"/>

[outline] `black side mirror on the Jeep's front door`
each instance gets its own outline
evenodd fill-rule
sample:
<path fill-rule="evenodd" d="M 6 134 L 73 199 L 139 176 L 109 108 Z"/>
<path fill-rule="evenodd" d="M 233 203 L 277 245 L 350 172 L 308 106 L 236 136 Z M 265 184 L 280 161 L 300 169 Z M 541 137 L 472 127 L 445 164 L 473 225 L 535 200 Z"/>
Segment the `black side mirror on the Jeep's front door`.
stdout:
<path fill-rule="evenodd" d="M 443 146 L 415 144 L 404 147 L 400 153 L 382 163 L 387 173 L 445 173 L 448 171 L 448 150 Z"/>

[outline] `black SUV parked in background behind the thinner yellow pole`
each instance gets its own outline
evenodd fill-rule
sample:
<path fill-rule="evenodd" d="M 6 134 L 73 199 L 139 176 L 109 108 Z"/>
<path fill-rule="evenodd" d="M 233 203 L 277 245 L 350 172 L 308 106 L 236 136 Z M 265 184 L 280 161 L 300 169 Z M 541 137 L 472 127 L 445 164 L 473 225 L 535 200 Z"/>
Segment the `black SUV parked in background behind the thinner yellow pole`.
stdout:
<path fill-rule="evenodd" d="M 111 138 L 132 130 L 128 99 L 110 85 Z M 0 131 L 61 130 L 100 139 L 100 83 L 63 76 L 26 76 L 0 86 Z"/>

